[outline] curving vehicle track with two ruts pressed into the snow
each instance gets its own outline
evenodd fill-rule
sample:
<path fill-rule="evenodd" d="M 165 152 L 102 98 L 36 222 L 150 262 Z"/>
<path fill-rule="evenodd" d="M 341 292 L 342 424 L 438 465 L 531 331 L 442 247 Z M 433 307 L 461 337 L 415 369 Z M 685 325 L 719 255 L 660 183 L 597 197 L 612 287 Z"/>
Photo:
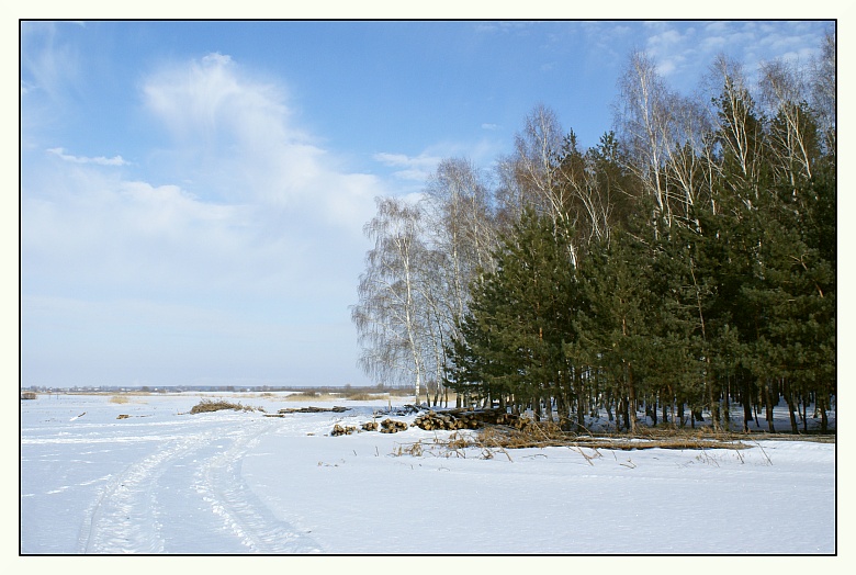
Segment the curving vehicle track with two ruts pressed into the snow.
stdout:
<path fill-rule="evenodd" d="M 305 533 L 274 518 L 241 478 L 243 458 L 275 422 L 210 420 L 217 415 L 199 416 L 209 419 L 206 425 L 165 438 L 155 452 L 109 481 L 81 526 L 78 552 L 320 552 Z"/>

